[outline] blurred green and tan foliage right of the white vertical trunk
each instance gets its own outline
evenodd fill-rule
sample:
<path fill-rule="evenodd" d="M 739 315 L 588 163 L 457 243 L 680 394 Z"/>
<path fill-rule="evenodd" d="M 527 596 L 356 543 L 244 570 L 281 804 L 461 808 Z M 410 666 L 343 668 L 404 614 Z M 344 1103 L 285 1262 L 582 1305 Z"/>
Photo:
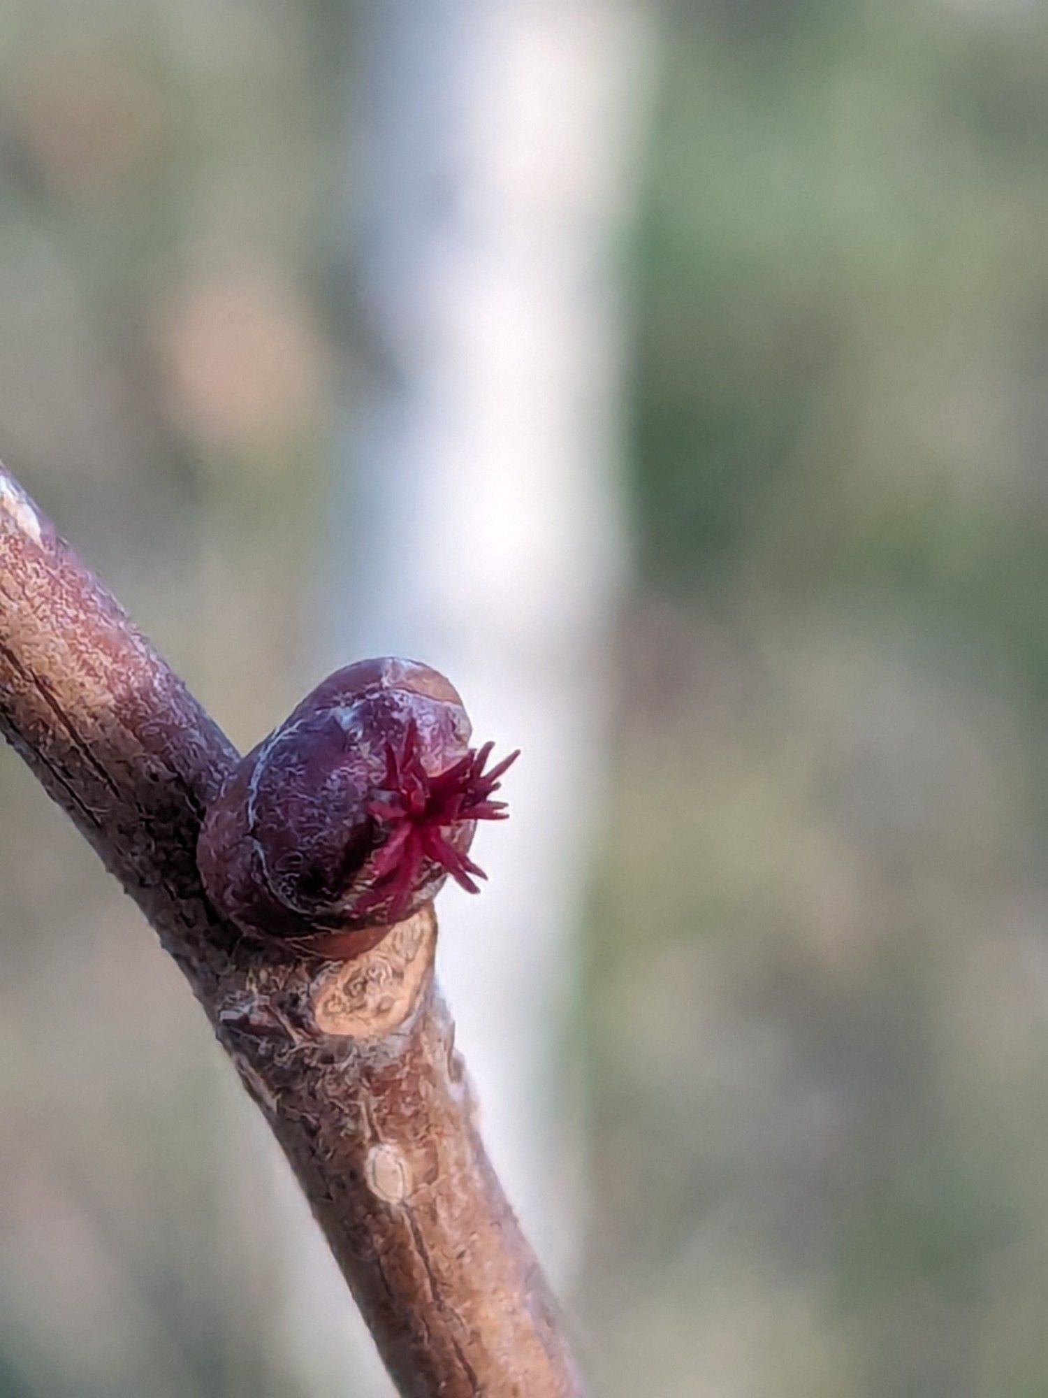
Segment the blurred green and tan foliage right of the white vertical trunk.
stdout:
<path fill-rule="evenodd" d="M 608 1392 L 1048 1385 L 1047 18 L 676 18 L 588 1000 Z"/>

